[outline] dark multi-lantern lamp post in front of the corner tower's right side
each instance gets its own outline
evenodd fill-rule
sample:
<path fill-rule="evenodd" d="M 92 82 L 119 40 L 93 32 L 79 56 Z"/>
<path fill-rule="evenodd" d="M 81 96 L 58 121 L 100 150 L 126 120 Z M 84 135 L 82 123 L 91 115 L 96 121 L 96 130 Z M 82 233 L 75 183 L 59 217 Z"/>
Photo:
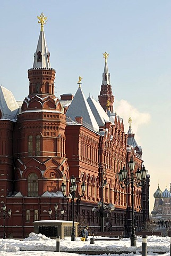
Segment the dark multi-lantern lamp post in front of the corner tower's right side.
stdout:
<path fill-rule="evenodd" d="M 75 198 L 75 193 L 76 193 L 76 188 L 77 188 L 77 184 L 75 183 L 76 179 L 74 177 L 74 175 L 72 175 L 71 179 L 71 186 L 70 186 L 70 193 L 72 196 L 72 233 L 71 233 L 71 241 L 75 241 L 75 227 L 74 227 L 74 198 Z M 82 182 L 81 185 L 81 189 L 82 189 L 82 195 L 80 195 L 80 197 L 82 197 L 86 191 L 86 185 L 84 182 Z M 66 185 L 64 184 L 64 182 L 61 185 L 61 190 L 64 196 L 65 195 L 65 190 L 66 190 Z"/>

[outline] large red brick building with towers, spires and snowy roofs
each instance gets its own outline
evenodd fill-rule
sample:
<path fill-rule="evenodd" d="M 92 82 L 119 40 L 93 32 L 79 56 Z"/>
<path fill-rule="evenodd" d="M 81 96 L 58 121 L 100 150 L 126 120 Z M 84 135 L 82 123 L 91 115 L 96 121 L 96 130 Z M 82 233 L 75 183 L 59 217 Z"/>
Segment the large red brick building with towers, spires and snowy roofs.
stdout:
<path fill-rule="evenodd" d="M 58 204 L 64 209 L 62 217 L 71 220 L 71 197 L 61 192 L 66 184 L 70 193 L 70 178 L 76 178 L 78 193 L 75 198 L 75 220 L 84 220 L 92 229 L 99 229 L 99 218 L 92 212 L 101 201 L 114 204 L 115 210 L 105 219 L 106 230 L 131 227 L 131 191 L 121 188 L 117 173 L 128 169 L 132 156 L 135 170 L 142 168 L 142 150 L 131 129 L 125 133 L 123 120 L 113 113 L 114 95 L 110 85 L 107 58 L 99 102 L 86 99 L 79 88 L 74 97 L 63 94 L 59 100 L 54 94 L 55 69 L 50 66 L 44 22 L 33 67 L 28 70 L 29 95 L 21 107 L 11 92 L 0 86 L 0 206 L 12 210 L 6 218 L 7 237 L 25 237 L 33 231 L 33 221 L 48 220 L 48 210 Z M 27 74 L 25 74 L 27 75 Z M 103 180 L 107 186 L 102 188 Z M 134 189 L 134 210 L 138 229 L 149 215 L 149 176 L 146 185 Z M 81 195 L 81 184 L 86 193 Z M 102 193 L 103 189 L 103 193 Z M 3 237 L 1 210 L 0 236 Z"/>

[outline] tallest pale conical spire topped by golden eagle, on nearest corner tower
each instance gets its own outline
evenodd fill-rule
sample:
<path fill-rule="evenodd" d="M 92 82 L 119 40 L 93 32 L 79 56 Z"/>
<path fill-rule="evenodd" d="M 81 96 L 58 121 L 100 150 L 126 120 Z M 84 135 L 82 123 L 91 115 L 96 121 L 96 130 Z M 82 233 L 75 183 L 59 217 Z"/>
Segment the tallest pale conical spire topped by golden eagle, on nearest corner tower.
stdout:
<path fill-rule="evenodd" d="M 38 17 L 38 16 L 37 16 Z M 33 68 L 50 68 L 50 53 L 47 49 L 46 39 L 45 39 L 45 33 L 44 33 L 44 24 L 46 23 L 45 20 L 47 17 L 44 16 L 43 13 L 41 13 L 40 17 L 38 17 L 39 21 L 38 23 L 41 23 L 41 31 L 39 35 L 39 40 L 37 44 L 37 49 L 34 54 L 34 63 Z"/>

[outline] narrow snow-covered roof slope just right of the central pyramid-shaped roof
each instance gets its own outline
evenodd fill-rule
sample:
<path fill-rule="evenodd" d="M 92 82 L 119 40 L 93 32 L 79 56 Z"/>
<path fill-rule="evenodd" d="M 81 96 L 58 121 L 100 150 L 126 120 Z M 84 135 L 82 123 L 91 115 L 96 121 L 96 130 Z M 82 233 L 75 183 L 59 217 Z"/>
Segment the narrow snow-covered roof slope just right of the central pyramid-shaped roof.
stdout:
<path fill-rule="evenodd" d="M 101 107 L 101 105 L 91 97 L 87 99 L 89 106 L 91 108 L 92 114 L 98 123 L 98 126 L 104 126 L 106 121 L 109 121 L 109 117 L 106 114 L 105 110 Z"/>

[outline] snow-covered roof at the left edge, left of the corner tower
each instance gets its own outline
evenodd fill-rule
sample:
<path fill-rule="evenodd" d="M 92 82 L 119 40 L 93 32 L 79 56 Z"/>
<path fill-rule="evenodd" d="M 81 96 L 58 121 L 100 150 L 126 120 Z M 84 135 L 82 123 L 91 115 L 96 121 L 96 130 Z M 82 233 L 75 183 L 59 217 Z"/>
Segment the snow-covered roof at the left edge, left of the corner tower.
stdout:
<path fill-rule="evenodd" d="M 16 114 L 19 110 L 19 105 L 16 102 L 11 91 L 3 86 L 0 86 L 0 110 L 2 113 L 1 119 L 16 119 Z"/>

